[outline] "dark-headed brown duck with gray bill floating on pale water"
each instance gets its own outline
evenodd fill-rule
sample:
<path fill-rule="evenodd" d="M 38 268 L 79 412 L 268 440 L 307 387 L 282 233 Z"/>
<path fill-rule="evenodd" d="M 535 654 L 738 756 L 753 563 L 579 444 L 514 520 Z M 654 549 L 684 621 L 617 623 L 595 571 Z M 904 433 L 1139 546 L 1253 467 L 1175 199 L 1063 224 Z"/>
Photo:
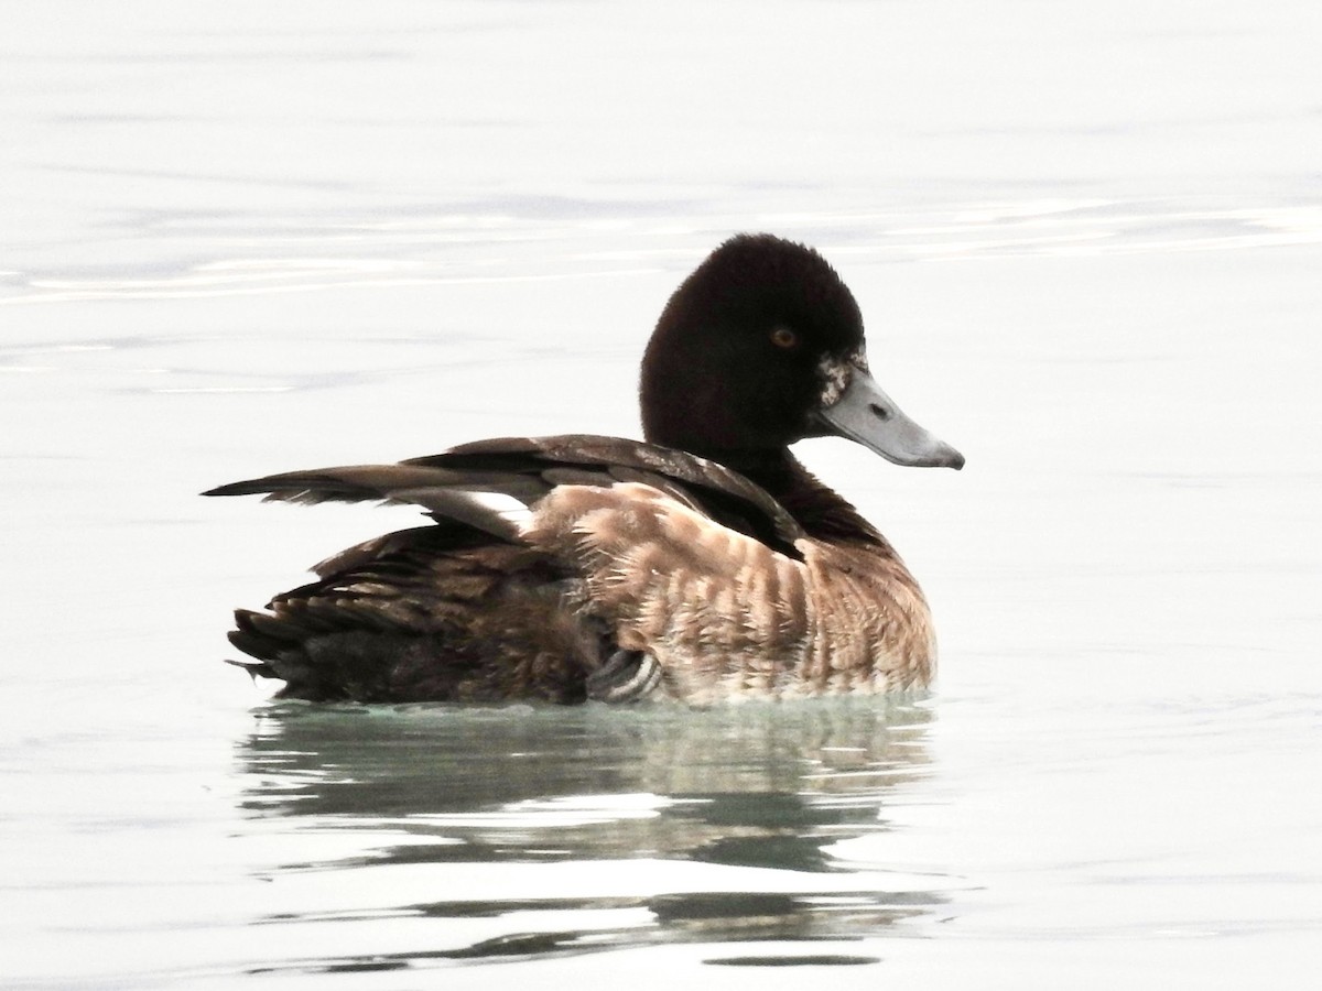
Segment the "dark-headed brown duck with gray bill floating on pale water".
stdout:
<path fill-rule="evenodd" d="M 674 700 L 925 688 L 927 600 L 891 543 L 791 452 L 841 436 L 906 466 L 964 456 L 869 371 L 854 295 L 814 248 L 720 243 L 642 357 L 642 441 L 500 437 L 205 495 L 420 507 L 229 633 L 278 698 Z"/>

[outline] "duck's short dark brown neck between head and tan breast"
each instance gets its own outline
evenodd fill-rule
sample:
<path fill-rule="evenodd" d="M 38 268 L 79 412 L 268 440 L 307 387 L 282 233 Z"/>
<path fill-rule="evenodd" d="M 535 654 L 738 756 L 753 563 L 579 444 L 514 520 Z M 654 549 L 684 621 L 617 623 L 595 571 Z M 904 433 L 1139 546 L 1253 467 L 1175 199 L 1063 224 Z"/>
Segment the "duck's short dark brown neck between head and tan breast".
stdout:
<path fill-rule="evenodd" d="M 849 502 L 822 485 L 788 449 L 723 452 L 718 459 L 765 489 L 798 521 L 809 536 L 829 543 L 870 544 L 890 550 L 878 530 Z"/>

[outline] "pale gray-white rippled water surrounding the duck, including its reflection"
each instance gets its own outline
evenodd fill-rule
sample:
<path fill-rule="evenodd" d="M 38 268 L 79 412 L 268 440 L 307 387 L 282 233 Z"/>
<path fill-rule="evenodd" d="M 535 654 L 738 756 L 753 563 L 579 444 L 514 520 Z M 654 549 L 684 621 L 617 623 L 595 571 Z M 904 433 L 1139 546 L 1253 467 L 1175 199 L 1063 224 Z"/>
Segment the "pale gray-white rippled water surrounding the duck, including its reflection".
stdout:
<path fill-rule="evenodd" d="M 7 8 L 0 983 L 1313 987 L 1319 42 L 1241 0 Z M 219 663 L 415 517 L 196 492 L 636 435 L 652 321 L 748 229 L 969 457 L 801 445 L 923 580 L 929 699 L 364 712 Z"/>

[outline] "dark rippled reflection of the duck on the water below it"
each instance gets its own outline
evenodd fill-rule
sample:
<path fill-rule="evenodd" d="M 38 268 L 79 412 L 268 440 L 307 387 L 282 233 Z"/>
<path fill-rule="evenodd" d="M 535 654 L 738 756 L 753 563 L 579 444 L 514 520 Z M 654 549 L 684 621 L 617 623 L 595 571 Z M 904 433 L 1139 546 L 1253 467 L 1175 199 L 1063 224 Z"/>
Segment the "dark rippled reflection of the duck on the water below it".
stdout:
<path fill-rule="evenodd" d="M 280 864 L 272 880 L 394 865 L 410 881 L 406 904 L 256 921 L 451 922 L 412 951 L 290 965 L 299 970 L 875 937 L 933 912 L 948 881 L 888 873 L 883 836 L 867 847 L 871 863 L 832 847 L 887 830 L 888 797 L 927 773 L 929 719 L 921 704 L 863 699 L 272 707 L 239 748 L 245 811 L 346 839 L 330 856 Z"/>

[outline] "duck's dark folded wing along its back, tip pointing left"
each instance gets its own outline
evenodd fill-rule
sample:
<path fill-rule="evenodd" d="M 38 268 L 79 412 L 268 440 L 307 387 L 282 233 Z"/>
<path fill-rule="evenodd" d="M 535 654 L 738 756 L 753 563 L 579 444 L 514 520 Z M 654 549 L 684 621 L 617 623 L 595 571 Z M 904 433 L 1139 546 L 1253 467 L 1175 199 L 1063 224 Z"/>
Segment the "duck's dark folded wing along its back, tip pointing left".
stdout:
<path fill-rule="evenodd" d="M 570 433 L 501 437 L 464 444 L 398 465 L 286 472 L 222 485 L 205 495 L 255 495 L 283 502 L 416 503 L 438 519 L 456 519 L 501 539 L 517 530 L 465 493 L 498 493 L 525 506 L 557 485 L 629 481 L 652 485 L 781 554 L 801 559 L 802 527 L 764 489 L 715 461 L 619 437 Z"/>

